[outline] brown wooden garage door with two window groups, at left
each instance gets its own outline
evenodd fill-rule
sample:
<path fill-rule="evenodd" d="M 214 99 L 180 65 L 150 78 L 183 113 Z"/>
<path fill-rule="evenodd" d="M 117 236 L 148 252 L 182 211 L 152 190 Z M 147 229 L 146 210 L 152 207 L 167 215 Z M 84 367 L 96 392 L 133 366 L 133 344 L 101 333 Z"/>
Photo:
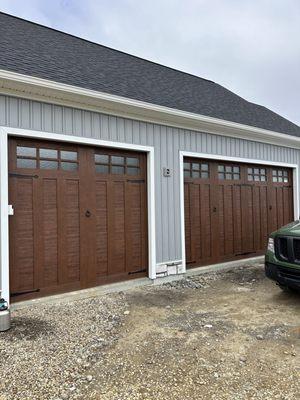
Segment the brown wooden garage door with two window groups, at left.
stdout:
<path fill-rule="evenodd" d="M 12 300 L 147 274 L 146 156 L 10 140 Z"/>

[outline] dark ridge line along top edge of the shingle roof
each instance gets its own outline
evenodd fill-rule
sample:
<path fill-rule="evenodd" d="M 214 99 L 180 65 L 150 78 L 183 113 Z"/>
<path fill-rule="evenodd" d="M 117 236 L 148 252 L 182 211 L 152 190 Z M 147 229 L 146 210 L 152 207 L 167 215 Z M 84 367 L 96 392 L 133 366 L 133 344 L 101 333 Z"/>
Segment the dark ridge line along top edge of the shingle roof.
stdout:
<path fill-rule="evenodd" d="M 126 51 L 119 50 L 119 49 L 114 49 L 113 47 L 109 47 L 109 46 L 106 46 L 106 45 L 101 44 L 101 43 L 93 42 L 92 40 L 85 39 L 85 38 L 82 38 L 80 36 L 73 35 L 72 33 L 64 32 L 64 31 L 62 31 L 60 29 L 56 29 L 56 28 L 52 28 L 52 27 L 47 26 L 47 25 L 40 24 L 39 22 L 30 21 L 28 19 L 25 19 L 25 18 L 22 18 L 22 17 L 18 17 L 17 15 L 12 15 L 12 14 L 3 12 L 1 10 L 0 10 L 0 14 L 7 15 L 8 17 L 12 17 L 12 18 L 18 19 L 20 21 L 24 21 L 24 22 L 27 22 L 29 24 L 36 25 L 36 26 L 39 26 L 41 28 L 45 28 L 45 29 L 49 29 L 49 30 L 54 31 L 54 32 L 58 32 L 58 33 L 61 33 L 63 35 L 67 35 L 67 36 L 70 36 L 70 37 L 78 39 L 78 40 L 82 40 L 84 42 L 90 43 L 90 44 L 95 45 L 95 46 L 100 46 L 100 47 L 103 47 L 103 48 L 108 49 L 108 50 L 116 51 L 118 53 L 125 54 L 126 56 L 129 56 L 129 57 L 132 57 L 132 58 L 136 58 L 138 60 L 142 60 L 142 61 L 154 64 L 154 65 L 158 65 L 159 67 L 167 68 L 167 69 L 170 69 L 170 70 L 175 71 L 175 72 L 179 72 L 179 73 L 184 74 L 184 75 L 189 75 L 189 76 L 192 76 L 193 78 L 197 78 L 197 79 L 201 79 L 201 80 L 206 81 L 206 82 L 211 82 L 211 83 L 217 84 L 216 82 L 212 81 L 211 79 L 202 78 L 201 76 L 192 74 L 191 72 L 182 71 L 180 69 L 177 69 L 177 68 L 174 68 L 174 67 L 170 67 L 168 65 L 164 65 L 164 64 L 161 64 L 161 63 L 156 62 L 156 61 L 148 60 L 147 58 L 143 58 L 143 57 L 140 57 L 140 56 L 136 56 L 134 54 L 126 53 Z"/>

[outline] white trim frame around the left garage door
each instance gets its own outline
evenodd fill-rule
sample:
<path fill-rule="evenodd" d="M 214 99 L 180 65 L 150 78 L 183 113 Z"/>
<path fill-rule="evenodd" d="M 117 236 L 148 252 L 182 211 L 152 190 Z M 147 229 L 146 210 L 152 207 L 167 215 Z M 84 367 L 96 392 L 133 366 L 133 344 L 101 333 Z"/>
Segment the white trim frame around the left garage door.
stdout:
<path fill-rule="evenodd" d="M 147 217 L 148 217 L 148 277 L 156 278 L 155 181 L 154 147 L 131 143 L 85 138 L 30 129 L 0 126 L 0 291 L 9 301 L 9 215 L 8 206 L 8 139 L 9 137 L 52 140 L 56 142 L 133 150 L 147 154 Z"/>

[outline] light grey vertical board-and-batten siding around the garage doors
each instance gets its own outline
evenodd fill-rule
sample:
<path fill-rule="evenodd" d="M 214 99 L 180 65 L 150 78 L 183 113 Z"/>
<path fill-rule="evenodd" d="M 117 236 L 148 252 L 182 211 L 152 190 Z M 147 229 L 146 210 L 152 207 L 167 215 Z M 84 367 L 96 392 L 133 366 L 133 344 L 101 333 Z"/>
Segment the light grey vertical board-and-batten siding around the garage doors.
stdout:
<path fill-rule="evenodd" d="M 300 151 L 0 95 L 0 125 L 154 146 L 157 263 L 181 260 L 179 151 L 300 165 Z M 163 168 L 171 168 L 171 177 Z"/>

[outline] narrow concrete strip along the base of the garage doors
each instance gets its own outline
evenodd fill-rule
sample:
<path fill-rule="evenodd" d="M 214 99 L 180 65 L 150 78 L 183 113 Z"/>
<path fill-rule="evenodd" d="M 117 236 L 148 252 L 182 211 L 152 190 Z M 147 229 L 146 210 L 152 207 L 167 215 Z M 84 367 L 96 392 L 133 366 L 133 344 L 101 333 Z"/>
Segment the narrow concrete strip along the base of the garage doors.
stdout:
<path fill-rule="evenodd" d="M 49 303 L 60 303 L 68 302 L 72 300 L 82 300 L 91 297 L 101 296 L 103 294 L 124 292 L 130 289 L 149 286 L 149 285 L 162 285 L 168 282 L 174 282 L 181 279 L 185 279 L 189 276 L 201 275 L 209 272 L 226 271 L 233 268 L 246 267 L 249 264 L 255 264 L 257 262 L 263 262 L 264 257 L 253 257 L 245 260 L 230 261 L 226 263 L 208 265 L 207 267 L 197 267 L 187 270 L 184 274 L 169 275 L 166 277 L 159 277 L 156 279 L 140 278 L 125 282 L 110 283 L 108 285 L 96 286 L 89 289 L 76 290 L 73 292 L 61 293 L 52 296 L 41 297 L 39 299 L 25 300 L 18 303 L 13 303 L 10 306 L 10 310 L 19 310 L 21 308 L 30 307 L 36 304 L 49 304 Z"/>

